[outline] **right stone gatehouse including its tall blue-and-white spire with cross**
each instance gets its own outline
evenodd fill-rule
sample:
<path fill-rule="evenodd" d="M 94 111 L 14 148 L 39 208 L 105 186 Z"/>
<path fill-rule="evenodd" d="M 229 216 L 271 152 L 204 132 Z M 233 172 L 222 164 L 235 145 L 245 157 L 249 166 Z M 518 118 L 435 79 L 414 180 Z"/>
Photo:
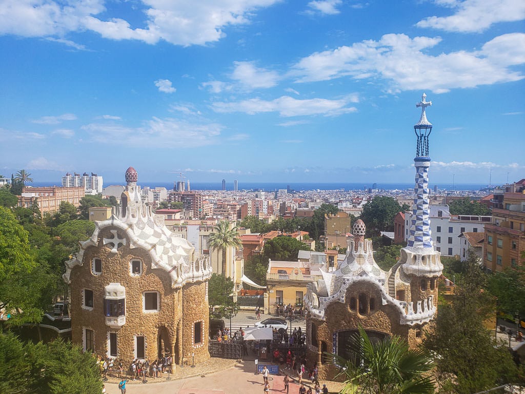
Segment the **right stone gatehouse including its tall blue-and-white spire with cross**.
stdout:
<path fill-rule="evenodd" d="M 432 124 L 426 119 L 425 108 L 431 103 L 425 98 L 417 104 L 422 116 L 414 126 L 418 138 L 413 220 L 400 259 L 383 271 L 374 261 L 372 242 L 364 238 L 364 223 L 358 220 L 352 227 L 354 238 L 347 237 L 345 260 L 333 272 L 321 269 L 322 280 L 308 285 L 304 297 L 308 354 L 322 379 L 333 379 L 337 373 L 334 366 L 324 364 L 323 352 L 351 358 L 348 340 L 359 327 L 372 340 L 395 335 L 415 347 L 437 311 L 437 280 L 443 265 L 430 231 L 427 155 Z"/>

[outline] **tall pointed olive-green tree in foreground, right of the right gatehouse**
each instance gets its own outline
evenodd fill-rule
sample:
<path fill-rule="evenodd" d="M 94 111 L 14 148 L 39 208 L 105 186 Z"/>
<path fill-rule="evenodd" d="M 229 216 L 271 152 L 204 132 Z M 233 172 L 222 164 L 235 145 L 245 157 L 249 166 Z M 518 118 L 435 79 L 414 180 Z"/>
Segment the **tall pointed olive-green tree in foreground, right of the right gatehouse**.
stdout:
<path fill-rule="evenodd" d="M 476 255 L 469 254 L 464 273 L 456 275 L 454 297 L 439 305 L 434 330 L 424 340 L 425 347 L 439 355 L 439 392 L 471 394 L 517 376 L 508 350 L 498 346 L 484 327 L 495 305 L 486 281 Z"/>

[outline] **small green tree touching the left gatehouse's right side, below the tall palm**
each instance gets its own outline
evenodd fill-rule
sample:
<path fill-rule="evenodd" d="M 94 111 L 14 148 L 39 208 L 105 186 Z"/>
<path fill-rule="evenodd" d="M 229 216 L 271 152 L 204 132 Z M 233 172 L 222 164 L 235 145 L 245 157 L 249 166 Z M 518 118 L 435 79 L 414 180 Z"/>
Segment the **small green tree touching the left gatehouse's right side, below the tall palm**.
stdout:
<path fill-rule="evenodd" d="M 216 273 L 212 274 L 208 282 L 208 302 L 213 315 L 211 317 L 229 318 L 230 315 L 237 314 L 239 306 L 233 302 L 233 289 L 232 278 Z"/>

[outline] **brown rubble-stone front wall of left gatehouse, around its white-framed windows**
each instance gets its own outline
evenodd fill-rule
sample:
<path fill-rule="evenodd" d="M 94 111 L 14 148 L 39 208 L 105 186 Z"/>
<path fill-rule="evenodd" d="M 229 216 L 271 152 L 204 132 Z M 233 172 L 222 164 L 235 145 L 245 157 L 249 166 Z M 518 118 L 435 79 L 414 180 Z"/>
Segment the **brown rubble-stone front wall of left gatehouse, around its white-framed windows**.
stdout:
<path fill-rule="evenodd" d="M 82 328 L 95 331 L 95 353 L 101 356 L 108 354 L 108 333 L 117 333 L 118 358 L 127 366 L 134 357 L 134 336 L 145 336 L 146 357 L 158 357 L 159 331 L 164 333 L 165 348 L 170 348 L 175 338 L 176 322 L 182 316 L 182 300 L 178 296 L 180 289 L 171 288 L 171 278 L 162 269 L 152 269 L 149 254 L 140 249 L 130 250 L 130 241 L 127 246 L 121 246 L 117 253 L 110 253 L 111 247 L 102 245 L 104 237 L 112 238 L 109 232 L 112 228 L 104 229 L 99 238 L 97 247 L 89 247 L 84 254 L 82 266 L 76 266 L 71 272 L 71 327 L 72 341 L 82 345 Z M 119 236 L 124 235 L 118 231 Z M 102 273 L 94 275 L 91 272 L 92 258 L 102 260 Z M 142 261 L 142 275 L 135 277 L 130 274 L 132 258 Z M 104 286 L 111 282 L 120 283 L 125 287 L 126 323 L 120 328 L 111 328 L 106 325 L 103 309 Z M 82 292 L 84 288 L 93 291 L 93 310 L 82 308 Z M 145 291 L 160 293 L 159 312 L 143 312 L 142 294 Z M 167 333 L 167 334 L 166 334 Z M 169 338 L 166 338 L 169 337 Z"/>

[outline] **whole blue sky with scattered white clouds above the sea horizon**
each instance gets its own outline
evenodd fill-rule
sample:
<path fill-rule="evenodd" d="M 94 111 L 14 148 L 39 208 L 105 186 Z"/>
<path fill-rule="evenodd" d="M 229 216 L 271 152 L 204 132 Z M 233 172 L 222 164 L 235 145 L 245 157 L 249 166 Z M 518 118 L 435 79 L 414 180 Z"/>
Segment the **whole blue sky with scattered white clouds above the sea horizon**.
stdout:
<path fill-rule="evenodd" d="M 522 0 L 0 0 L 0 174 L 525 177 Z"/>

